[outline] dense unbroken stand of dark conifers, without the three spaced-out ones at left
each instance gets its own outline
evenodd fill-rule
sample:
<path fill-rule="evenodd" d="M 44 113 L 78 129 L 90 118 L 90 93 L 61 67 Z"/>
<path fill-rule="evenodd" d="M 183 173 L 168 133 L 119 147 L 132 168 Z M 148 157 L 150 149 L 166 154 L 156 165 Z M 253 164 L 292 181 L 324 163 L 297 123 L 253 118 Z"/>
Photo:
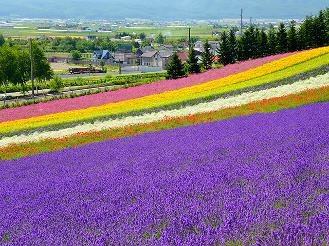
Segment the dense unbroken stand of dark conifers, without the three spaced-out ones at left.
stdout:
<path fill-rule="evenodd" d="M 307 15 L 299 28 L 295 20 L 289 27 L 279 24 L 276 30 L 250 26 L 243 35 L 236 38 L 234 32 L 223 32 L 220 47 L 217 48 L 217 62 L 227 65 L 247 59 L 265 57 L 286 52 L 301 51 L 327 46 L 329 44 L 329 8 L 320 10 L 315 16 Z"/>

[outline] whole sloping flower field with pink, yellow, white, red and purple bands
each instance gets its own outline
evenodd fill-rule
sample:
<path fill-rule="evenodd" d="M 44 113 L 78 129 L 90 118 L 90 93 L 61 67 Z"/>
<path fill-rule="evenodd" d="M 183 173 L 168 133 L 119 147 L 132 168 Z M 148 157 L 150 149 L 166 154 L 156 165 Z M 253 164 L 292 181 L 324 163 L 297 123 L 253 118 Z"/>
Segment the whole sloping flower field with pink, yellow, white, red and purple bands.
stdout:
<path fill-rule="evenodd" d="M 2 245 L 329 245 L 329 47 L 0 110 Z"/>

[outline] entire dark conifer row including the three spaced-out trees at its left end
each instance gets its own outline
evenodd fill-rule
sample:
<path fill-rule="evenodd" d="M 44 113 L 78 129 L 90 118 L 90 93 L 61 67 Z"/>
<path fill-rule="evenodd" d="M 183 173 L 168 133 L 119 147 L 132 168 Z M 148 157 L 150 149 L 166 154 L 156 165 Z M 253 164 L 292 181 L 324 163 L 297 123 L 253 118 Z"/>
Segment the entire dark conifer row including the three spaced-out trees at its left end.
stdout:
<path fill-rule="evenodd" d="M 173 54 L 168 65 L 167 78 L 175 79 L 199 73 L 202 69 L 211 69 L 213 64 L 225 66 L 248 59 L 327 46 L 329 8 L 320 10 L 315 16 L 307 15 L 299 28 L 296 27 L 295 20 L 291 20 L 288 28 L 284 23 L 280 23 L 277 30 L 270 25 L 268 33 L 252 25 L 240 37 L 236 37 L 234 31 L 230 29 L 222 32 L 216 54 L 210 51 L 210 44 L 206 40 L 200 63 L 194 49 L 190 49 L 185 65 L 176 53 Z"/>

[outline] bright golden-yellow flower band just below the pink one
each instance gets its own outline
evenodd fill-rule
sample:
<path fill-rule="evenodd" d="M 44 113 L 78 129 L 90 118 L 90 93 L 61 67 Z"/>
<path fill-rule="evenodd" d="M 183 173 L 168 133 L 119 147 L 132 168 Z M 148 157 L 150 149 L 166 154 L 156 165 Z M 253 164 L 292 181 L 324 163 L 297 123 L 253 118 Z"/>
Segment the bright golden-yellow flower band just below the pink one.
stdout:
<path fill-rule="evenodd" d="M 262 65 L 260 67 L 247 70 L 245 72 L 241 72 L 238 74 L 230 75 L 221 79 L 216 79 L 213 81 L 209 81 L 204 84 L 199 84 L 192 87 L 182 88 L 176 91 L 168 91 L 163 92 L 161 94 L 155 94 L 150 96 L 145 96 L 141 98 L 120 101 L 118 103 L 111 103 L 107 105 L 102 105 L 98 107 L 90 107 L 87 109 L 81 110 L 74 110 L 68 112 L 61 112 L 57 114 L 50 114 L 38 117 L 32 117 L 28 119 L 19 119 L 13 121 L 7 121 L 0 123 L 0 128 L 4 130 L 7 127 L 13 126 L 21 126 L 19 128 L 23 128 L 26 124 L 31 124 L 33 122 L 41 122 L 41 121 L 48 121 L 48 120 L 56 120 L 61 118 L 71 118 L 72 120 L 78 119 L 81 116 L 93 115 L 93 114 L 100 114 L 104 111 L 111 111 L 119 108 L 131 107 L 140 104 L 146 103 L 155 103 L 156 101 L 166 100 L 175 97 L 186 96 L 194 93 L 200 93 L 203 91 L 213 90 L 216 88 L 236 84 L 242 81 L 246 81 L 255 77 L 260 77 L 272 72 L 276 72 L 282 70 L 284 68 L 296 65 L 308 59 L 317 57 L 319 55 L 325 54 L 329 52 L 329 47 L 318 48 L 314 50 L 304 51 L 298 54 L 294 54 L 279 60 L 272 61 L 269 64 Z"/>

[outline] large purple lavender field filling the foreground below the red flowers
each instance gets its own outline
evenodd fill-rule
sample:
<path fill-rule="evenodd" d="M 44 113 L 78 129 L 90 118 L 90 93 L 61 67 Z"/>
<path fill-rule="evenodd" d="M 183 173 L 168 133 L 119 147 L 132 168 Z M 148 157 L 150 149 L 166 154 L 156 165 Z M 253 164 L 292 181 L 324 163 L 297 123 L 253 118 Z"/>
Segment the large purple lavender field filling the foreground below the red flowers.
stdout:
<path fill-rule="evenodd" d="M 328 245 L 329 102 L 2 160 L 2 245 Z"/>

